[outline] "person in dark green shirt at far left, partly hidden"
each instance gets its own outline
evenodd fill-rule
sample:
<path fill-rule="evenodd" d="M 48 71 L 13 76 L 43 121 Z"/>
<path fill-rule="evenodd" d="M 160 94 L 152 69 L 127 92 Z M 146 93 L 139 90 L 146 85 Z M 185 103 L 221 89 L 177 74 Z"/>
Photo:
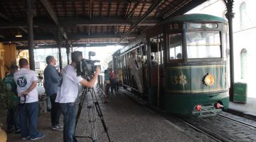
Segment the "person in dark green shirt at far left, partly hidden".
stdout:
<path fill-rule="evenodd" d="M 18 70 L 17 65 L 11 65 L 11 73 L 9 75 L 6 75 L 4 77 L 4 84 L 6 84 L 6 89 L 8 89 L 11 92 L 14 92 L 16 95 L 13 99 L 15 101 L 18 101 L 18 93 L 17 93 L 17 86 L 16 83 L 14 82 L 14 72 Z M 19 125 L 19 114 L 18 114 L 18 106 L 16 107 L 11 107 L 8 109 L 8 114 L 7 114 L 7 133 L 11 133 L 14 131 L 15 133 L 19 133 L 21 131 L 20 125 Z"/>

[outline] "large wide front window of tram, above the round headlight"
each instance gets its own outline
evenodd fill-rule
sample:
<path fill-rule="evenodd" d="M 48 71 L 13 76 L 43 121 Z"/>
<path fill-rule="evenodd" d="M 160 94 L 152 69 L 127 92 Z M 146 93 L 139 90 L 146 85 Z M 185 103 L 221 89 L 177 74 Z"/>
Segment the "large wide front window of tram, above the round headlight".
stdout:
<path fill-rule="evenodd" d="M 219 32 L 186 33 L 188 58 L 220 58 Z"/>

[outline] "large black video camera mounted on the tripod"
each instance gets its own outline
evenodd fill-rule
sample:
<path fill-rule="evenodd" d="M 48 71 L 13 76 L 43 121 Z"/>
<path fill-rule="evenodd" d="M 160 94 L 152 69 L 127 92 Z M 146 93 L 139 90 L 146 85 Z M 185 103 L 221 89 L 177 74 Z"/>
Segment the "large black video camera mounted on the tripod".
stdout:
<path fill-rule="evenodd" d="M 100 62 L 100 60 L 90 60 L 90 56 L 94 56 L 95 53 L 89 52 L 89 59 L 82 59 L 77 66 L 77 75 L 81 75 L 83 78 L 90 79 L 95 72 L 95 62 Z"/>

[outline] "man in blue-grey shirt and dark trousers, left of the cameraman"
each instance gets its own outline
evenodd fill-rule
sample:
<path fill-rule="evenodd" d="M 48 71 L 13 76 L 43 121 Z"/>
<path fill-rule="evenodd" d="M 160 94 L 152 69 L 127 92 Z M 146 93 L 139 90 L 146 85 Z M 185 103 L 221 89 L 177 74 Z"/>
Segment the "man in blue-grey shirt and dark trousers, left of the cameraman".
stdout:
<path fill-rule="evenodd" d="M 50 97 L 51 109 L 50 109 L 50 117 L 52 123 L 52 129 L 62 131 L 63 128 L 59 126 L 60 119 L 60 104 L 55 102 L 57 96 L 58 89 L 58 80 L 59 75 L 55 68 L 56 60 L 53 56 L 46 57 L 46 69 L 43 71 L 46 94 Z"/>

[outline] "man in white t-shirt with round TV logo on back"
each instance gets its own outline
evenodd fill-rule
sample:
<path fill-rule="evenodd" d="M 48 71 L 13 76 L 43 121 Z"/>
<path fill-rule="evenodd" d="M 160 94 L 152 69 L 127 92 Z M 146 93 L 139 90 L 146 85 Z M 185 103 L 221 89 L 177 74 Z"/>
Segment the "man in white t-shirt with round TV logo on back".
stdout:
<path fill-rule="evenodd" d="M 14 74 L 17 92 L 20 95 L 20 122 L 21 138 L 36 140 L 44 135 L 38 132 L 38 92 L 36 90 L 38 78 L 36 72 L 29 70 L 28 60 L 21 58 L 18 61 L 20 70 Z"/>

